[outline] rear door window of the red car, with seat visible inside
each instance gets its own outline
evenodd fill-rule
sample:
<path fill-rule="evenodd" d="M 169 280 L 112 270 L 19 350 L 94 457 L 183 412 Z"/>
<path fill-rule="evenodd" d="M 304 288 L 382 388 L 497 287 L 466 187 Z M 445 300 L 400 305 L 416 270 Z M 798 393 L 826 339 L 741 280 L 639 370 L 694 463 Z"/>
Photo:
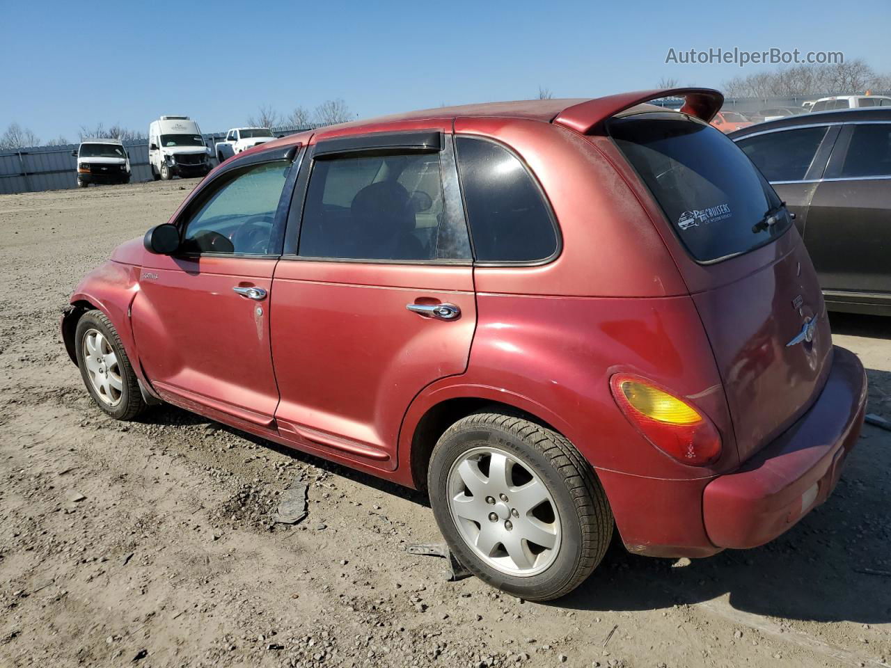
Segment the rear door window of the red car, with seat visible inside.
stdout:
<path fill-rule="evenodd" d="M 460 216 L 448 216 L 440 154 L 388 152 L 315 159 L 300 257 L 470 259 Z"/>

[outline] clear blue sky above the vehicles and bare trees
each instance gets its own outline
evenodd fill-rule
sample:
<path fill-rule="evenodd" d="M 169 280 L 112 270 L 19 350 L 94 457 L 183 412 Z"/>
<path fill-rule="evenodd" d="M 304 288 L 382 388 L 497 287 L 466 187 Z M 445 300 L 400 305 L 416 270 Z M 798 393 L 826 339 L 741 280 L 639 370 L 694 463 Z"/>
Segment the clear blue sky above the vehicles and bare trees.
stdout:
<path fill-rule="evenodd" d="M 628 10 L 634 7 L 635 12 Z M 359 118 L 493 100 L 715 86 L 733 65 L 677 50 L 842 51 L 891 72 L 891 2 L 115 2 L 0 0 L 0 132 L 41 139 L 185 113 L 204 132 L 342 98 Z"/>

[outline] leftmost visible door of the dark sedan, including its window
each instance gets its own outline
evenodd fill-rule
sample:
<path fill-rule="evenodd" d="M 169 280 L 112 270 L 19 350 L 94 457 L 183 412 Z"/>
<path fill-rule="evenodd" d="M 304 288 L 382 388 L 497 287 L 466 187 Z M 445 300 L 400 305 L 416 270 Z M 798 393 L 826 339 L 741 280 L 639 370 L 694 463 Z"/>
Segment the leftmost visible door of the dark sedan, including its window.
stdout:
<path fill-rule="evenodd" d="M 803 237 L 813 193 L 837 136 L 838 126 L 827 124 L 785 127 L 734 138 L 795 214 L 796 227 Z"/>

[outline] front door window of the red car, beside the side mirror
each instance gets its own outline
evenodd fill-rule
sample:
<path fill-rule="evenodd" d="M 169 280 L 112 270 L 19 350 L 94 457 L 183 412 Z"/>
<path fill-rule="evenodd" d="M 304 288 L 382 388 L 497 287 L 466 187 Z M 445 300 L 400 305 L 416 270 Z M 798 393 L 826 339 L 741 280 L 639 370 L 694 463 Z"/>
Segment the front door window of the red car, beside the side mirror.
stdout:
<path fill-rule="evenodd" d="M 290 162 L 244 167 L 211 183 L 185 223 L 183 249 L 191 253 L 265 255 L 273 241 L 275 210 Z"/>

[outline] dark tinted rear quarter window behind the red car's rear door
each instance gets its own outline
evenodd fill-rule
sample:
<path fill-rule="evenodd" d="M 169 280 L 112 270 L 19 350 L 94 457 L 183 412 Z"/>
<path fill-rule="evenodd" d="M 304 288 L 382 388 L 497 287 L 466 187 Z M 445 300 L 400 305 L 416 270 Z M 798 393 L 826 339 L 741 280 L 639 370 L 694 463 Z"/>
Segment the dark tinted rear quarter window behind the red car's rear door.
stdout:
<path fill-rule="evenodd" d="M 537 183 L 503 146 L 458 137 L 458 167 L 479 262 L 533 262 L 557 252 L 557 231 Z"/>

